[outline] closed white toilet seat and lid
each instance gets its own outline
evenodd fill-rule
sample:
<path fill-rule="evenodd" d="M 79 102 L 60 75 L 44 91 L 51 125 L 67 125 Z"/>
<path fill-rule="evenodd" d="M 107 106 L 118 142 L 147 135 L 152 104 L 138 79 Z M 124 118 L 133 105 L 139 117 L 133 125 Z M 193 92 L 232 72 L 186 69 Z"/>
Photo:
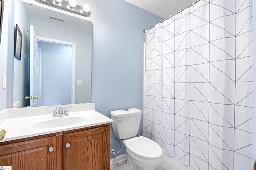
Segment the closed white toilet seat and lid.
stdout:
<path fill-rule="evenodd" d="M 162 148 L 155 141 L 143 136 L 128 139 L 125 143 L 127 150 L 141 158 L 157 159 L 163 154 Z"/>

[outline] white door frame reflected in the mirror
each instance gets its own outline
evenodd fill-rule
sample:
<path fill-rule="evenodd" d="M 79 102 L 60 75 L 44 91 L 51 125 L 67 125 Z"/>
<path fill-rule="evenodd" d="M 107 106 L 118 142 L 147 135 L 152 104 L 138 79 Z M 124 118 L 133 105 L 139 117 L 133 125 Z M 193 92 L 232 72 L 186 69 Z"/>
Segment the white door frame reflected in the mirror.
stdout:
<path fill-rule="evenodd" d="M 76 43 L 69 42 L 69 41 L 62 41 L 59 39 L 52 39 L 52 38 L 46 38 L 46 37 L 37 37 L 38 41 L 46 41 L 50 43 L 57 43 L 57 44 L 63 44 L 63 45 L 69 45 L 72 47 L 72 104 L 76 103 Z"/>

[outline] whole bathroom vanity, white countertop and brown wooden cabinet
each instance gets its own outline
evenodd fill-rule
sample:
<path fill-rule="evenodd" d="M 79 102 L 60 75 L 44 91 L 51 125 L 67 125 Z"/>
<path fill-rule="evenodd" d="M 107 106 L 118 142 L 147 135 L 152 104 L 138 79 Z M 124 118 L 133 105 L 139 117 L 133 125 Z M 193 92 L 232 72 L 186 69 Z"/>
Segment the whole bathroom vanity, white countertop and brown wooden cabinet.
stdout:
<path fill-rule="evenodd" d="M 58 121 L 54 122 L 55 127 L 51 127 L 54 117 L 49 117 L 51 115 L 47 114 L 15 117 L 15 114 L 11 113 L 13 110 L 0 113 L 0 128 L 6 130 L 6 137 L 0 141 L 0 166 L 12 166 L 13 170 L 110 169 L 112 119 L 93 108 L 80 111 L 85 108 L 81 105 L 95 106 L 94 104 L 72 105 L 76 111 L 70 112 L 70 115 L 65 117 L 57 117 L 56 120 L 76 121 L 70 119 L 72 117 L 86 120 L 61 127 L 58 127 Z M 28 111 L 27 115 L 30 113 Z M 3 117 L 7 119 L 4 120 Z M 51 124 L 48 125 L 48 122 Z M 40 123 L 45 126 L 38 126 L 41 125 Z"/>

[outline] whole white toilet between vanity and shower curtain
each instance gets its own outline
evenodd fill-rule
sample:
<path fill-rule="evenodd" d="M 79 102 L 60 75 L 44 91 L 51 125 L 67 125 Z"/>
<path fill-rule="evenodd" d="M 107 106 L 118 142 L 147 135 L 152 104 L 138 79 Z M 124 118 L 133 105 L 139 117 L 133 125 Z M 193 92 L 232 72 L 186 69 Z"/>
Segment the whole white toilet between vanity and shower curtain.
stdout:
<path fill-rule="evenodd" d="M 127 110 L 127 109 L 126 109 Z M 127 165 L 124 170 L 154 170 L 162 162 L 162 148 L 151 139 L 136 137 L 140 126 L 139 109 L 111 111 L 112 128 L 125 146 Z"/>

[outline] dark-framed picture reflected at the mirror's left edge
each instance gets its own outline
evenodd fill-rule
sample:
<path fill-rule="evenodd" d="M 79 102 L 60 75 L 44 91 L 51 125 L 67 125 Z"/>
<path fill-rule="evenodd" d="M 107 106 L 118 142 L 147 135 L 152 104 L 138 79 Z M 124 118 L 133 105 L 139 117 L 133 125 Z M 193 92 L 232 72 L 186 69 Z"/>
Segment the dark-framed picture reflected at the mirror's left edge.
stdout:
<path fill-rule="evenodd" d="M 21 45 L 22 45 L 22 32 L 18 24 L 16 24 L 15 34 L 14 34 L 14 56 L 17 59 L 21 59 Z"/>

